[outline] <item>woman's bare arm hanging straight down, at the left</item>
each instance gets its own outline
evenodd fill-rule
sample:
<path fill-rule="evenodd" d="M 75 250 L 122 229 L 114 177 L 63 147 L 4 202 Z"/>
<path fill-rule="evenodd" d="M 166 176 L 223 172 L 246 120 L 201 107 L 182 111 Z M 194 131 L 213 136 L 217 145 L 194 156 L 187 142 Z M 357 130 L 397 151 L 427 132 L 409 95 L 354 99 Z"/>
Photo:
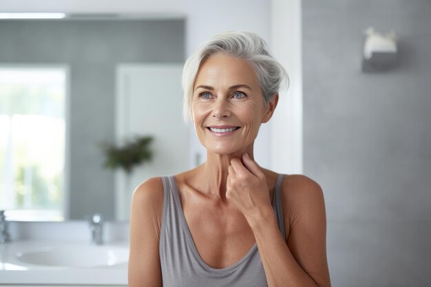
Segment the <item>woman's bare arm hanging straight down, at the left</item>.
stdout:
<path fill-rule="evenodd" d="M 140 184 L 130 216 L 129 287 L 161 287 L 159 240 L 163 185 L 160 178 Z"/>

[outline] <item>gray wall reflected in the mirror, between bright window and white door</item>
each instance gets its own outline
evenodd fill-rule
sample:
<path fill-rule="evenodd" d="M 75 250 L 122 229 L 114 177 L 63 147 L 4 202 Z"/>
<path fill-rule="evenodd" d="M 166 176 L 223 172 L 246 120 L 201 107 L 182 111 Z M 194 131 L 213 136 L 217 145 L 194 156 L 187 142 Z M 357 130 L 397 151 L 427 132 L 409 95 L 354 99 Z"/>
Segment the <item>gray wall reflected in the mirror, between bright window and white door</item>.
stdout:
<path fill-rule="evenodd" d="M 114 219 L 114 173 L 102 141 L 114 141 L 117 63 L 182 63 L 185 24 L 169 21 L 0 21 L 0 63 L 70 66 L 70 218 Z"/>

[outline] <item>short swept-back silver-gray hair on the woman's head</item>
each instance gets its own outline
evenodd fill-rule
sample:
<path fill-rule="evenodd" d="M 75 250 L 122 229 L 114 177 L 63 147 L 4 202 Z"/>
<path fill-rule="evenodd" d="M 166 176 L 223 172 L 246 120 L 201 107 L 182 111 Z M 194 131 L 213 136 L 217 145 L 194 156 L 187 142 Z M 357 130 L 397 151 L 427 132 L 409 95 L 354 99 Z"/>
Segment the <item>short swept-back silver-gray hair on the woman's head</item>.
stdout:
<path fill-rule="evenodd" d="M 196 52 L 187 59 L 182 70 L 183 115 L 185 122 L 189 118 L 193 101 L 193 85 L 199 67 L 213 54 L 225 54 L 249 61 L 254 67 L 262 88 L 266 105 L 280 90 L 282 83 L 288 86 L 288 75 L 282 65 L 275 61 L 265 49 L 266 43 L 257 34 L 245 31 L 233 31 L 216 34 L 209 41 L 202 43 Z"/>

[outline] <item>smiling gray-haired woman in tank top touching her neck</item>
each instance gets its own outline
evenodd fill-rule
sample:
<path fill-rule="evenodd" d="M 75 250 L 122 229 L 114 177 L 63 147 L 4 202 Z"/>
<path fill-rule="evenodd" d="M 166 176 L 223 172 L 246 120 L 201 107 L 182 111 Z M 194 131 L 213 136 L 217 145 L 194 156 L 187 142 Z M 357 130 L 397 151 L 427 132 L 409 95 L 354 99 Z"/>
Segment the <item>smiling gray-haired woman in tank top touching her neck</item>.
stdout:
<path fill-rule="evenodd" d="M 204 164 L 151 178 L 132 200 L 129 286 L 330 286 L 322 189 L 253 160 L 282 66 L 251 32 L 218 34 L 183 71 Z"/>

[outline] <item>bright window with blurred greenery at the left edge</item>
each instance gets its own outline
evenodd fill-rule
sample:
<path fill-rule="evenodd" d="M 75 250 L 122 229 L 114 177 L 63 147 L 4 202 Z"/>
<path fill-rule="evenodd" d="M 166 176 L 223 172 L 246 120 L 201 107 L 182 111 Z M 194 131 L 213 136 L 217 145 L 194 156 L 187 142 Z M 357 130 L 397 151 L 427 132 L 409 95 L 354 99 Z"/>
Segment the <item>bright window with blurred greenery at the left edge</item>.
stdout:
<path fill-rule="evenodd" d="M 67 68 L 0 65 L 0 209 L 10 220 L 65 217 Z"/>

